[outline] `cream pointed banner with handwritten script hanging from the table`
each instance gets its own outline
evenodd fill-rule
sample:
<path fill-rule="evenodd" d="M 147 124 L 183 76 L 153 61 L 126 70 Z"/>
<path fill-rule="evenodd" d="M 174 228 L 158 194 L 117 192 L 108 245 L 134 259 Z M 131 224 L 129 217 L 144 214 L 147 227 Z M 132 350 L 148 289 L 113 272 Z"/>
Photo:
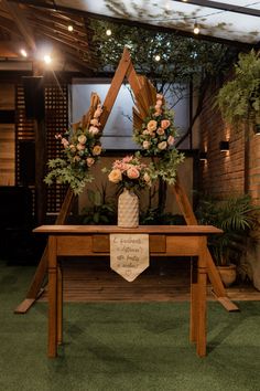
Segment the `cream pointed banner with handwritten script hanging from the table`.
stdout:
<path fill-rule="evenodd" d="M 131 283 L 148 266 L 148 234 L 110 234 L 111 270 Z"/>

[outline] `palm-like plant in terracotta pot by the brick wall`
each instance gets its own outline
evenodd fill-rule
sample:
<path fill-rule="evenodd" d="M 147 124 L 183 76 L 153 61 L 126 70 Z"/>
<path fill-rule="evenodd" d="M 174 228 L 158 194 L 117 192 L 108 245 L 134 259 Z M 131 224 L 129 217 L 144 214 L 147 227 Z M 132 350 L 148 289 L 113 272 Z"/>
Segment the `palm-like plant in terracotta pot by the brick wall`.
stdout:
<path fill-rule="evenodd" d="M 257 224 L 259 207 L 249 196 L 218 201 L 206 197 L 199 201 L 196 214 L 201 224 L 212 224 L 224 231 L 209 237 L 209 251 L 226 286 L 236 281 L 236 266 L 247 247 L 250 231 Z"/>

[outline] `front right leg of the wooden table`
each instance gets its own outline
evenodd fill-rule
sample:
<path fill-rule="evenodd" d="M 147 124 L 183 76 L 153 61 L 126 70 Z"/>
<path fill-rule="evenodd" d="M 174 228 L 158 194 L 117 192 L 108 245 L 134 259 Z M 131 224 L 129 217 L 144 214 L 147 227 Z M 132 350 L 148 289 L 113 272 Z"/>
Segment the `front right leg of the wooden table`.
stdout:
<path fill-rule="evenodd" d="M 198 256 L 197 268 L 197 355 L 199 357 L 206 356 L 206 300 L 207 300 L 207 242 L 206 237 L 202 239 L 201 254 Z"/>

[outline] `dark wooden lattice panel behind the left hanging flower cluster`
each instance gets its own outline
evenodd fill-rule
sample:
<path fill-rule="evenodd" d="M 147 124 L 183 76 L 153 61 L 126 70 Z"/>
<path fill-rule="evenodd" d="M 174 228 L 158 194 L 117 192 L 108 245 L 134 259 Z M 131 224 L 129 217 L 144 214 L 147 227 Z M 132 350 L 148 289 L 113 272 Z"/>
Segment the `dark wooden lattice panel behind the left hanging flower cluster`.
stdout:
<path fill-rule="evenodd" d="M 62 145 L 55 139 L 68 127 L 68 88 L 66 85 L 47 85 L 45 87 L 45 118 L 47 134 L 47 159 L 62 156 Z M 47 188 L 47 212 L 57 213 L 66 193 L 66 187 L 52 184 Z"/>

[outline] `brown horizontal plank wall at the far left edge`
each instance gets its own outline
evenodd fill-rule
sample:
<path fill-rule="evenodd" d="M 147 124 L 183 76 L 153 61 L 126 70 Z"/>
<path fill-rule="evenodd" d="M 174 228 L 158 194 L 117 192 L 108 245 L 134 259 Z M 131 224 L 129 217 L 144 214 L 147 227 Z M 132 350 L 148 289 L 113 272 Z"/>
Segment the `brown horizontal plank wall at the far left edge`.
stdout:
<path fill-rule="evenodd" d="M 3 84 L 0 88 L 0 109 L 14 110 L 14 85 Z M 0 186 L 13 186 L 15 181 L 15 127 L 0 124 Z"/>

